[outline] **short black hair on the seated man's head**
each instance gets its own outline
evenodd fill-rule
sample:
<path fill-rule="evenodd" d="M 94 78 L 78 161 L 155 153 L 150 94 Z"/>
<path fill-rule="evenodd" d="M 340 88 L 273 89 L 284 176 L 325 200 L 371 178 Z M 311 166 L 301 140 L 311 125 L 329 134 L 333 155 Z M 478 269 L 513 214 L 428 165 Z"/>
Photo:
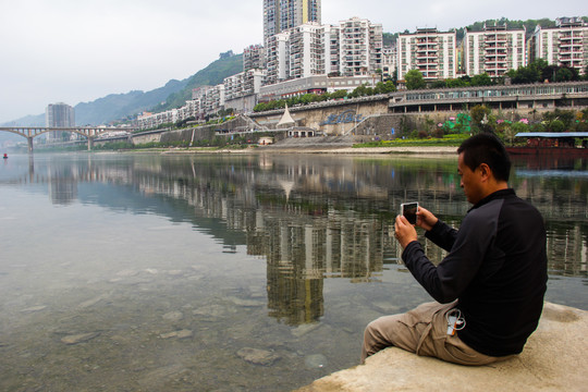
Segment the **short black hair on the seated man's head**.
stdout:
<path fill-rule="evenodd" d="M 502 142 L 492 133 L 483 132 L 465 139 L 457 154 L 464 152 L 464 163 L 476 170 L 481 163 L 488 164 L 494 177 L 509 181 L 511 158 Z"/>

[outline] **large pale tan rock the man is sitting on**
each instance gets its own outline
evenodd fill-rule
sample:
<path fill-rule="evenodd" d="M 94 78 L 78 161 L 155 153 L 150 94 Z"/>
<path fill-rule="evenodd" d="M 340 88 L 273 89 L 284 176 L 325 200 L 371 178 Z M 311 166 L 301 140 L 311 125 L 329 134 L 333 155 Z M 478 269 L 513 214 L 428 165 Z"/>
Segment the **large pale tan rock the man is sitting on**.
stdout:
<path fill-rule="evenodd" d="M 298 392 L 586 391 L 588 313 L 546 303 L 524 352 L 490 366 L 468 367 L 387 348 L 366 365 L 321 378 Z"/>

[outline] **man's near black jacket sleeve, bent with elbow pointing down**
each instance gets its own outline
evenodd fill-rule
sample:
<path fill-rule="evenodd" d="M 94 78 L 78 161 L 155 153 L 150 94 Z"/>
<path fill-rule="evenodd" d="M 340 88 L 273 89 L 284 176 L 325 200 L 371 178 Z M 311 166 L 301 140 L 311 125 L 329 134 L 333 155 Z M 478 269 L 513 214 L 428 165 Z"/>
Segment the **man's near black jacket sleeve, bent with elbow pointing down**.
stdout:
<path fill-rule="evenodd" d="M 450 254 L 439 266 L 436 267 L 427 258 L 417 241 L 406 246 L 402 259 L 429 295 L 437 302 L 446 304 L 457 299 L 476 275 L 487 249 L 495 237 L 495 220 L 469 213 L 462 222 L 460 231 L 455 233 Z M 450 234 L 440 237 L 448 235 Z"/>

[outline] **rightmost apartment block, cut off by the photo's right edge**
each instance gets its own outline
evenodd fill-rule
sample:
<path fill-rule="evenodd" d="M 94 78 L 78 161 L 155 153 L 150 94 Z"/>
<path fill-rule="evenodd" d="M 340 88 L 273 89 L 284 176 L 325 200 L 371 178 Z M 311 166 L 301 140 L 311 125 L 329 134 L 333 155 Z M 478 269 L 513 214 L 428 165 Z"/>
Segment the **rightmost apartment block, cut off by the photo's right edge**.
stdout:
<path fill-rule="evenodd" d="M 588 66 L 588 24 L 581 17 L 559 17 L 555 27 L 538 25 L 529 44 L 531 61 L 567 66 L 584 74 Z"/>

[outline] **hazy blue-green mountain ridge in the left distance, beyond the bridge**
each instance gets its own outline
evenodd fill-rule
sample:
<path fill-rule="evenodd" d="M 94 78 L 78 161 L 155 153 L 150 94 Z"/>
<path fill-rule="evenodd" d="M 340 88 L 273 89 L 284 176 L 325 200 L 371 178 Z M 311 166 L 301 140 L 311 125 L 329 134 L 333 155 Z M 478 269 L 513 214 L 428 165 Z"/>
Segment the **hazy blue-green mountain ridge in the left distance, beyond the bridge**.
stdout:
<path fill-rule="evenodd" d="M 221 53 L 221 58 L 210 63 L 204 70 L 183 81 L 170 81 L 166 86 L 144 93 L 134 90 L 126 94 L 111 94 L 91 102 L 77 103 L 75 109 L 75 123 L 83 125 L 108 124 L 115 120 L 134 117 L 142 111 L 162 111 L 184 106 L 192 98 L 192 89 L 218 85 L 225 77 L 243 71 L 243 54 L 233 56 L 232 52 Z M 45 126 L 45 113 L 27 115 L 10 121 L 3 126 Z M 0 140 L 12 134 L 1 132 Z M 17 135 L 13 135 L 20 137 Z"/>

